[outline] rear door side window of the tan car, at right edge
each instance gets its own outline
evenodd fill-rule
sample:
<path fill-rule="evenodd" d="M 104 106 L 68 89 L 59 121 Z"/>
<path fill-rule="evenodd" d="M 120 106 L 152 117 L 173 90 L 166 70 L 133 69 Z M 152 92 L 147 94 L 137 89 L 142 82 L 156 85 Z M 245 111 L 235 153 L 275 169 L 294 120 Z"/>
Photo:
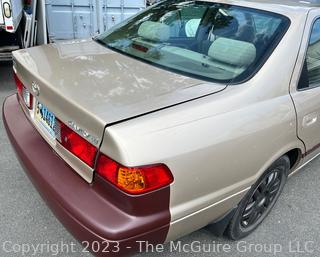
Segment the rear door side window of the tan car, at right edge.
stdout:
<path fill-rule="evenodd" d="M 312 27 L 304 69 L 306 71 L 302 79 L 308 83 L 301 81 L 299 89 L 320 86 L 320 19 Z"/>

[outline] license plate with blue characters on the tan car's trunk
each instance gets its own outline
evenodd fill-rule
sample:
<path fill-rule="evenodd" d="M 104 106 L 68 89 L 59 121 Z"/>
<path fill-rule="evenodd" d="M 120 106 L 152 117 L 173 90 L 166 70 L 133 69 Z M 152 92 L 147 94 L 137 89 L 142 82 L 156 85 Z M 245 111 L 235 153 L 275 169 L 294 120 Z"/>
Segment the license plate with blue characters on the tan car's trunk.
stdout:
<path fill-rule="evenodd" d="M 45 105 L 40 102 L 37 103 L 35 117 L 40 125 L 49 133 L 49 135 L 52 138 L 56 138 L 56 117 Z"/>

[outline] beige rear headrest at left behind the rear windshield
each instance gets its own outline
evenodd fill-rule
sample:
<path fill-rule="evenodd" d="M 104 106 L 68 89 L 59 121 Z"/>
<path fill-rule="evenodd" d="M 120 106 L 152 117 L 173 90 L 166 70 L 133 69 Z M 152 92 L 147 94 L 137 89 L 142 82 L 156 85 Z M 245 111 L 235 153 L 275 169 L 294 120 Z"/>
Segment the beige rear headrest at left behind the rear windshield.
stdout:
<path fill-rule="evenodd" d="M 140 25 L 138 35 L 148 40 L 164 42 L 170 38 L 170 27 L 160 22 L 145 21 Z"/>

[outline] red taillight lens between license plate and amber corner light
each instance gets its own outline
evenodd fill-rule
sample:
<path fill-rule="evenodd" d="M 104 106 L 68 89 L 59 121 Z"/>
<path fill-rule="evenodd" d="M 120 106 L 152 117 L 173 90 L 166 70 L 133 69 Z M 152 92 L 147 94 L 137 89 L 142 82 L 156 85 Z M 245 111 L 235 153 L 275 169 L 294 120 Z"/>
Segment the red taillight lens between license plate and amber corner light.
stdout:
<path fill-rule="evenodd" d="M 57 120 L 56 126 L 57 140 L 61 145 L 93 168 L 97 155 L 97 148 L 61 121 Z"/>

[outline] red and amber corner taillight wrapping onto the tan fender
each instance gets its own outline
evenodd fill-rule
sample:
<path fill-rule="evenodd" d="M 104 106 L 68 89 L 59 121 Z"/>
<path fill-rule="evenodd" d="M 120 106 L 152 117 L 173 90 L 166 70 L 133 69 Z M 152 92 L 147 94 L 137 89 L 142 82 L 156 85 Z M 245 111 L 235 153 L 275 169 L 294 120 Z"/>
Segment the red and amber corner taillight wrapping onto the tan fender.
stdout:
<path fill-rule="evenodd" d="M 129 194 L 143 194 L 173 182 L 169 168 L 164 164 L 126 167 L 101 154 L 97 173 Z"/>

